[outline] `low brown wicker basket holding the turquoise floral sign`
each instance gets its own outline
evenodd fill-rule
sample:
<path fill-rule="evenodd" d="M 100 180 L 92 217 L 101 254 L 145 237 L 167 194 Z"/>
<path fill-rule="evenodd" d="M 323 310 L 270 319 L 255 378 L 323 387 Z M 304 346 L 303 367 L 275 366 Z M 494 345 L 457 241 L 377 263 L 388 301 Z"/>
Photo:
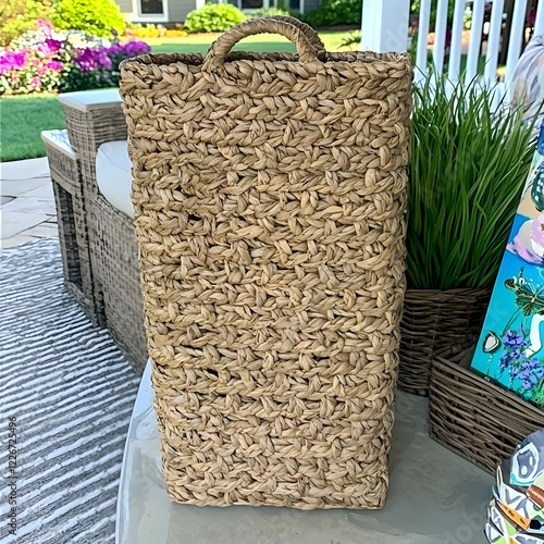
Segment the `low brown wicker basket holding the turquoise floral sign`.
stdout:
<path fill-rule="evenodd" d="M 544 412 L 468 370 L 472 349 L 433 362 L 430 435 L 487 472 L 544 428 Z"/>

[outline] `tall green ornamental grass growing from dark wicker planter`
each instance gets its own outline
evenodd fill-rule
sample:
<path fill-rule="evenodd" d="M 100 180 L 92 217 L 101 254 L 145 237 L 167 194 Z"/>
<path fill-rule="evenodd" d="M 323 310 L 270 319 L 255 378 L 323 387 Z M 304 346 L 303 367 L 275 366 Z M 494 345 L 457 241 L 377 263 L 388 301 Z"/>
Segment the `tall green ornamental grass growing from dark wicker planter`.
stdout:
<path fill-rule="evenodd" d="M 415 86 L 408 184 L 411 288 L 489 287 L 506 248 L 535 141 L 494 90 L 430 76 Z"/>

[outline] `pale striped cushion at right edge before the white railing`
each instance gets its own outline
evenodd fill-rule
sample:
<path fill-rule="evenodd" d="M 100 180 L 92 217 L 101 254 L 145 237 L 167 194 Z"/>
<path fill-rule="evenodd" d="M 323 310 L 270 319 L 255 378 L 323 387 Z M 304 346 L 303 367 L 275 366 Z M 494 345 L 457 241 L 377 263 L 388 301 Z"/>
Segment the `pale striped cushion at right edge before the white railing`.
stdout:
<path fill-rule="evenodd" d="M 512 106 L 524 109 L 523 119 L 532 121 L 539 114 L 540 126 L 544 113 L 539 112 L 544 100 L 544 36 L 533 36 L 527 45 L 516 64 L 510 92 Z"/>

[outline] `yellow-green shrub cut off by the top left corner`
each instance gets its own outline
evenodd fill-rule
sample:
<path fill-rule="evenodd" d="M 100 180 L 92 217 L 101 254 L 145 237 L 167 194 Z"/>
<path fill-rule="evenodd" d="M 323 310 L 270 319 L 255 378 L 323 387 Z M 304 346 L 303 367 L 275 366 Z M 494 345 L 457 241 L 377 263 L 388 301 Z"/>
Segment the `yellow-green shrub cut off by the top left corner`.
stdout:
<path fill-rule="evenodd" d="M 48 0 L 3 0 L 0 9 L 0 46 L 8 46 L 26 30 L 37 30 L 39 20 L 51 16 Z"/>

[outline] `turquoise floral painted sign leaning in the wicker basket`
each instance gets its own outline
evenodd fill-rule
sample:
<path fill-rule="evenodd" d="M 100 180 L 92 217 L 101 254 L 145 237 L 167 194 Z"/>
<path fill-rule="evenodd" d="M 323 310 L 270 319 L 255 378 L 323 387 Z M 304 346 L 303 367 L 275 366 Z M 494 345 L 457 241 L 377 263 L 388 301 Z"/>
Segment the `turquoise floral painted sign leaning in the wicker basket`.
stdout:
<path fill-rule="evenodd" d="M 544 129 L 470 368 L 544 409 Z"/>

